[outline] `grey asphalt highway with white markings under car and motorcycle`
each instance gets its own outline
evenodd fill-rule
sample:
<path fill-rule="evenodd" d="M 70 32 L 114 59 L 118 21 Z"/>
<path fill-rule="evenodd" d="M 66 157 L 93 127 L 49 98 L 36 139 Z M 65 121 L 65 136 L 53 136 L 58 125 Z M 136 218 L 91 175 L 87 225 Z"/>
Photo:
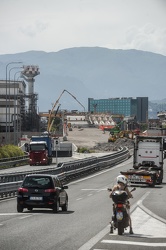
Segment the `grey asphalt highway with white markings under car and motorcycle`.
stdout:
<path fill-rule="evenodd" d="M 109 234 L 112 201 L 108 187 L 132 158 L 111 169 L 69 183 L 69 209 L 16 211 L 16 198 L 0 201 L 1 250 L 166 249 L 166 170 L 163 184 L 137 187 L 131 199 L 134 234 Z M 165 166 L 164 166 L 165 169 Z"/>

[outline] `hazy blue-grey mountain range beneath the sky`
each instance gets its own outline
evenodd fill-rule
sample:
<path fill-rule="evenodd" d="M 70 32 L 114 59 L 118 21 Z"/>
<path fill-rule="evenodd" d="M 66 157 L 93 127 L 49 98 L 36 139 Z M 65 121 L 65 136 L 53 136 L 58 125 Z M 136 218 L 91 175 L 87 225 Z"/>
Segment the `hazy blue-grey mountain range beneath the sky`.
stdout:
<path fill-rule="evenodd" d="M 82 106 L 88 108 L 88 98 L 116 97 L 148 97 L 151 116 L 153 104 L 158 105 L 157 111 L 166 109 L 166 56 L 160 54 L 102 47 L 5 54 L 0 55 L 0 79 L 5 79 L 6 65 L 16 61 L 39 66 L 34 89 L 40 112 L 52 109 L 64 89 L 76 99 L 64 92 L 59 100 L 60 109 L 83 111 Z M 9 68 L 16 66 L 19 65 Z"/>

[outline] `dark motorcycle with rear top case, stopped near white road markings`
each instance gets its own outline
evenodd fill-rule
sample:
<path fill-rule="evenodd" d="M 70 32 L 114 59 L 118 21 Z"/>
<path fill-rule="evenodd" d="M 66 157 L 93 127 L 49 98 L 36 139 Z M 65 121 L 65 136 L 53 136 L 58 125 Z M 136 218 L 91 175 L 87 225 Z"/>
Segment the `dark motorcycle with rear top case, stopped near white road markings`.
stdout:
<path fill-rule="evenodd" d="M 133 188 L 130 192 L 134 190 L 136 188 Z M 112 189 L 108 188 L 108 191 L 112 191 Z M 112 193 L 112 200 L 114 204 L 110 233 L 113 233 L 114 229 L 118 229 L 118 235 L 122 235 L 124 230 L 130 226 L 130 217 L 127 212 L 130 207 L 128 195 L 124 190 L 116 190 Z"/>

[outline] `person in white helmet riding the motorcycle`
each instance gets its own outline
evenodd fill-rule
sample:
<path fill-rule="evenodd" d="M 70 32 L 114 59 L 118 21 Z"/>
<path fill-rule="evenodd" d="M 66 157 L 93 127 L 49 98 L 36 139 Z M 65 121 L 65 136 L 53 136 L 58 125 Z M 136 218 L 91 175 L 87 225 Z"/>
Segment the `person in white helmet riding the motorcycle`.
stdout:
<path fill-rule="evenodd" d="M 129 191 L 127 187 L 127 178 L 124 175 L 118 175 L 117 176 L 117 184 L 114 185 L 112 188 L 109 197 L 112 198 L 112 193 L 116 190 L 124 190 L 128 194 L 128 199 L 133 198 L 132 193 Z M 114 217 L 114 205 L 113 205 L 113 217 Z M 126 210 L 129 216 L 129 226 L 130 226 L 130 234 L 133 234 L 133 229 L 132 229 L 132 221 L 131 221 L 131 216 L 130 216 L 130 203 L 127 200 L 127 205 L 126 205 Z M 111 222 L 111 231 L 113 232 L 113 221 Z"/>

